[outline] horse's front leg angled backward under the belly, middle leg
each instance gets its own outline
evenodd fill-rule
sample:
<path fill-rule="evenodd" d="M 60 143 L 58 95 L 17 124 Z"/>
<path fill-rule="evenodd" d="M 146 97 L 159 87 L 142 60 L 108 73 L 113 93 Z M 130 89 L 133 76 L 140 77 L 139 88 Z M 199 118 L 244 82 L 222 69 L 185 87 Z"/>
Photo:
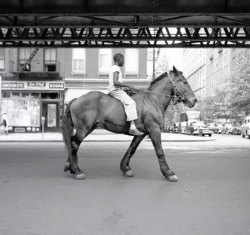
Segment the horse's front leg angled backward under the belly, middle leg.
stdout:
<path fill-rule="evenodd" d="M 138 145 L 141 143 L 141 141 L 144 139 L 145 136 L 146 135 L 135 136 L 133 138 L 127 152 L 125 153 L 124 157 L 121 160 L 120 169 L 123 172 L 123 174 L 127 177 L 134 176 L 134 172 L 130 168 L 129 162 L 130 162 L 131 157 L 134 155 Z"/>

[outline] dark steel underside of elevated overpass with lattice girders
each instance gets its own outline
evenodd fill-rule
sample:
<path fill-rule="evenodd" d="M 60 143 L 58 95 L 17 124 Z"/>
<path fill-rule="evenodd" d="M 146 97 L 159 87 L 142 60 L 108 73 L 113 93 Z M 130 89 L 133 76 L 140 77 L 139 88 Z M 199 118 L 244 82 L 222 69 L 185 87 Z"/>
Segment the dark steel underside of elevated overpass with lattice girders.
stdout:
<path fill-rule="evenodd" d="M 250 2 L 1 1 L 0 47 L 250 47 Z"/>

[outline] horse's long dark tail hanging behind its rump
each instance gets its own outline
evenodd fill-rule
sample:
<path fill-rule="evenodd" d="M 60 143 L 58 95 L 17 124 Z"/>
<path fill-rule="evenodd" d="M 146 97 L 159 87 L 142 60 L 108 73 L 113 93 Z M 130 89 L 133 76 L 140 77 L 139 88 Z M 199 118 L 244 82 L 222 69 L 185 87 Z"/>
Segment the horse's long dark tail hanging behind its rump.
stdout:
<path fill-rule="evenodd" d="M 65 113 L 63 115 L 63 119 L 62 119 L 63 141 L 68 151 L 70 151 L 71 149 L 71 137 L 74 135 L 74 124 L 73 124 L 71 113 L 70 113 L 70 106 L 74 100 L 71 100 L 69 104 L 67 105 Z"/>

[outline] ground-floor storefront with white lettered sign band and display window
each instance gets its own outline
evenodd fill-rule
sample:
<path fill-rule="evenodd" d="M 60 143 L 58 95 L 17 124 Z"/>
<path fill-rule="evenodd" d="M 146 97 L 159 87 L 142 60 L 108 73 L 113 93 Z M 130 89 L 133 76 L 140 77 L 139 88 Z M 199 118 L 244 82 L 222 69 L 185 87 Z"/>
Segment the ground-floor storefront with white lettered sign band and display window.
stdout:
<path fill-rule="evenodd" d="M 59 131 L 64 111 L 64 82 L 2 81 L 2 112 L 9 131 Z"/>

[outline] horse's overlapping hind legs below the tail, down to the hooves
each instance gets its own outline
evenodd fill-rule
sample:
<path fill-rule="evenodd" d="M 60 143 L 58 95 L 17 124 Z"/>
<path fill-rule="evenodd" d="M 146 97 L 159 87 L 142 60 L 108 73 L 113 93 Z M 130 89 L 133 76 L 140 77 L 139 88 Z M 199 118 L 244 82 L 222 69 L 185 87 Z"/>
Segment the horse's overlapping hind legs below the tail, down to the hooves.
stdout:
<path fill-rule="evenodd" d="M 82 143 L 83 139 L 88 136 L 94 128 L 85 129 L 85 130 L 77 130 L 75 135 L 71 137 L 71 148 L 68 153 L 68 160 L 65 164 L 64 171 L 69 170 L 76 179 L 85 179 L 85 174 L 78 166 L 78 156 L 77 152 L 79 150 L 80 144 Z"/>

